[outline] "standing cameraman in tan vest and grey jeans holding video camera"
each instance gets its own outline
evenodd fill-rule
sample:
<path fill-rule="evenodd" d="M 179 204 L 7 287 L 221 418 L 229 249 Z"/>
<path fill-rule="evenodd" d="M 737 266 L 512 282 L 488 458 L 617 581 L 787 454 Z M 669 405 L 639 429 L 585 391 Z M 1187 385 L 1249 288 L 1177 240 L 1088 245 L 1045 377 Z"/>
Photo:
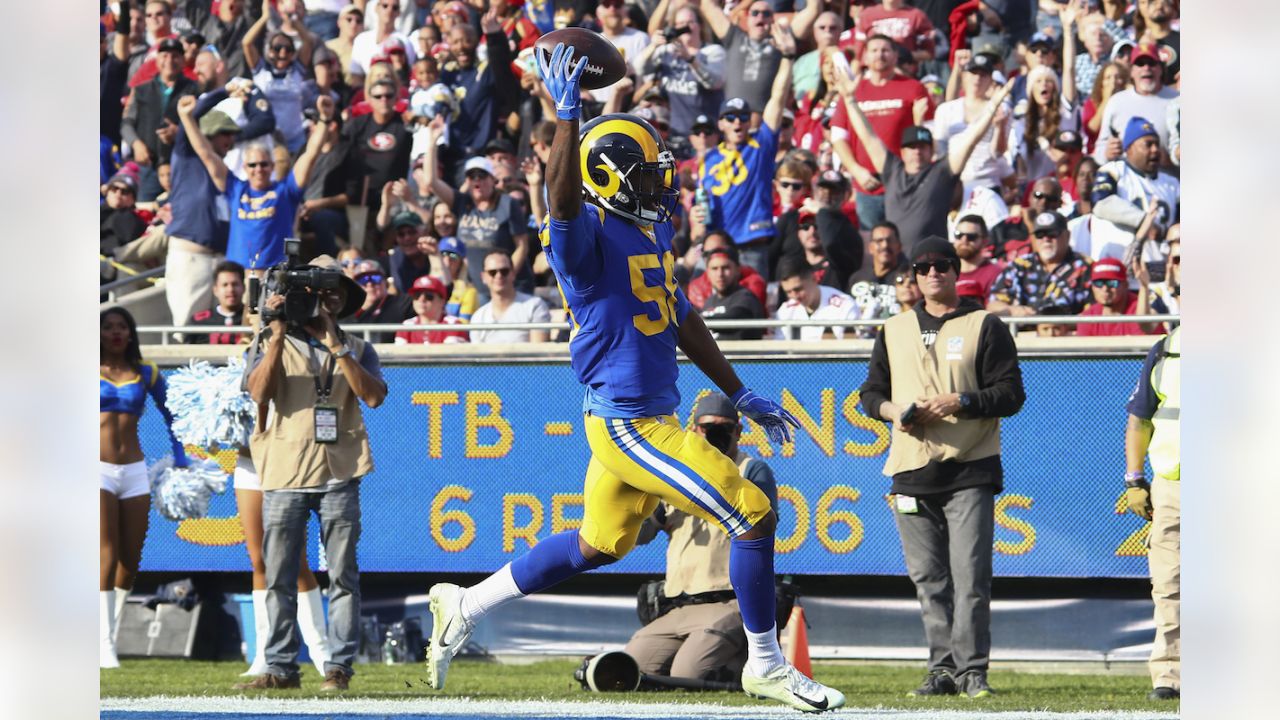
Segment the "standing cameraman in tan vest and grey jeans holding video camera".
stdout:
<path fill-rule="evenodd" d="M 307 520 L 316 512 L 329 565 L 332 651 L 320 689 L 343 691 L 360 629 L 360 479 L 374 469 L 360 402 L 378 407 L 387 383 L 374 347 L 335 322 L 365 297 L 335 260 L 321 255 L 308 265 L 273 268 L 262 296 L 259 306 L 269 327 L 250 351 L 247 386 L 256 402 L 271 405 L 265 428 L 250 442 L 262 480 L 270 635 L 268 673 L 237 688 L 300 687 L 298 564 Z"/>

